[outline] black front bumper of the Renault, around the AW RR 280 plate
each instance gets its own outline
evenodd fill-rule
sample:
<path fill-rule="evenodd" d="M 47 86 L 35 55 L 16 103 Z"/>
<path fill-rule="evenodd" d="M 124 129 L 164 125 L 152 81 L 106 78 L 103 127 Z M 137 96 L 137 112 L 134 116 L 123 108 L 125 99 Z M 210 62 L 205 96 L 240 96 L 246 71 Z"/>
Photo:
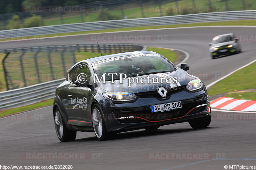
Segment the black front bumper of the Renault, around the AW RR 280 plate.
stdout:
<path fill-rule="evenodd" d="M 175 101 L 181 101 L 182 108 L 151 113 L 151 105 Z M 208 94 L 204 89 L 193 93 L 177 92 L 172 94 L 168 100 L 162 101 L 145 97 L 130 103 L 114 103 L 105 98 L 102 98 L 102 102 L 105 103 L 101 107 L 107 131 L 123 132 L 144 129 L 147 126 L 188 122 L 191 119 L 211 115 Z"/>

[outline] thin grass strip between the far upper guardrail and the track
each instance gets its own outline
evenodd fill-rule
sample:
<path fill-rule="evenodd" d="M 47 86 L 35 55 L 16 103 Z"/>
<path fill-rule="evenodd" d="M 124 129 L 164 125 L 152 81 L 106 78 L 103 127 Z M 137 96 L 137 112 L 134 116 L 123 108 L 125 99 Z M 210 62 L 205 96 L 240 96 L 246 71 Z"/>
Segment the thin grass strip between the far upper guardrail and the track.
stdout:
<path fill-rule="evenodd" d="M 56 36 L 76 35 L 76 34 L 86 34 L 86 33 L 106 33 L 106 32 L 114 32 L 114 31 L 131 31 L 131 30 L 159 29 L 159 28 L 178 28 L 178 27 L 189 27 L 189 26 L 256 26 L 255 21 L 256 20 L 239 20 L 239 21 L 220 21 L 220 22 L 203 22 L 203 23 L 192 23 L 192 24 L 177 24 L 177 25 L 166 25 L 166 26 L 137 26 L 137 27 L 130 27 L 130 28 L 80 31 L 80 32 L 72 32 L 72 33 L 56 33 L 56 34 L 35 35 L 35 36 L 28 36 L 28 37 L 24 36 L 24 37 L 19 37 L 19 40 L 29 39 L 29 38 L 40 39 L 40 38 L 45 38 L 45 37 L 56 37 Z M 17 38 L 0 39 L 0 41 L 17 41 Z"/>

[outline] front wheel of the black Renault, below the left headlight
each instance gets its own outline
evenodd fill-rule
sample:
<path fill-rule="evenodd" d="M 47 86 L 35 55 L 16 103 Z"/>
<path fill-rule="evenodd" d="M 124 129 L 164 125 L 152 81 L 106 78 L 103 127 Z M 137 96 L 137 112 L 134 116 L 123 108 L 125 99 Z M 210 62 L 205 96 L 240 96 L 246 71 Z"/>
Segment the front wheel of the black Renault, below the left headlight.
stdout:
<path fill-rule="evenodd" d="M 98 104 L 92 107 L 92 125 L 98 140 L 108 140 L 116 136 L 116 132 L 107 132 L 106 124 L 103 119 L 103 111 Z"/>

